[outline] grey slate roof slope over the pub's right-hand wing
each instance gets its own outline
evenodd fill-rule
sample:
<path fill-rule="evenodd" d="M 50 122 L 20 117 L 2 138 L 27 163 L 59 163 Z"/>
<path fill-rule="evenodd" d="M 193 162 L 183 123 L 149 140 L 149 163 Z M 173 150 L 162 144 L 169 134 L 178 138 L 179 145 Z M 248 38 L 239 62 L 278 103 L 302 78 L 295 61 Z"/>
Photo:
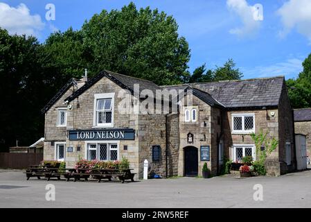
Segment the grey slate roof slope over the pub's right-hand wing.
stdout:
<path fill-rule="evenodd" d="M 208 92 L 226 108 L 277 107 L 284 76 L 194 83 L 192 86 Z"/>

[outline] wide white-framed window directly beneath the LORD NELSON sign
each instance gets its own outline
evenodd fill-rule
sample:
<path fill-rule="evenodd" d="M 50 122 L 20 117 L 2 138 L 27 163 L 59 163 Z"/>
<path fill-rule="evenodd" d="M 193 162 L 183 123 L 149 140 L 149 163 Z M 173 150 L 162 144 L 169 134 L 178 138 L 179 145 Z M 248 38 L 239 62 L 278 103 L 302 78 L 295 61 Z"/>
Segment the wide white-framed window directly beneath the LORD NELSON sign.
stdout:
<path fill-rule="evenodd" d="M 119 148 L 116 142 L 98 142 L 87 144 L 87 160 L 119 160 Z"/>

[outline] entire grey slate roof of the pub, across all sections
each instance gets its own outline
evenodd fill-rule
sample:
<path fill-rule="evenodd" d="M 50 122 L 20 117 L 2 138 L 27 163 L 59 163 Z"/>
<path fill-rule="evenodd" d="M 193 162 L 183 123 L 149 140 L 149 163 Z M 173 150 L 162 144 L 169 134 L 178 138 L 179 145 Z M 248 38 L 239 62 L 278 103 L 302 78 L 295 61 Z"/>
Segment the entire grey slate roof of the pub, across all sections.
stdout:
<path fill-rule="evenodd" d="M 125 76 L 122 74 L 116 74 L 112 71 L 101 71 L 100 74 L 91 78 L 82 87 L 77 89 L 71 96 L 67 97 L 64 101 L 73 101 L 89 89 L 92 85 L 98 82 L 103 77 L 107 77 L 114 81 L 117 85 L 123 89 L 128 89 L 134 94 L 134 84 L 139 84 L 139 91 L 143 89 L 150 89 L 155 92 L 157 89 L 181 89 L 186 90 L 188 87 L 193 89 L 193 94 L 202 101 L 218 108 L 233 109 L 246 109 L 246 108 L 271 108 L 277 107 L 278 101 L 281 97 L 281 92 L 285 84 L 284 76 L 276 76 L 271 78 L 254 78 L 247 80 L 225 80 L 211 83 L 192 83 L 182 85 L 168 85 L 158 86 L 148 80 L 140 78 L 134 78 L 131 76 Z M 48 102 L 48 104 L 42 109 L 42 112 L 46 112 L 57 99 L 60 98 L 66 92 L 66 90 L 76 83 L 75 79 L 69 80 L 60 92 Z"/>

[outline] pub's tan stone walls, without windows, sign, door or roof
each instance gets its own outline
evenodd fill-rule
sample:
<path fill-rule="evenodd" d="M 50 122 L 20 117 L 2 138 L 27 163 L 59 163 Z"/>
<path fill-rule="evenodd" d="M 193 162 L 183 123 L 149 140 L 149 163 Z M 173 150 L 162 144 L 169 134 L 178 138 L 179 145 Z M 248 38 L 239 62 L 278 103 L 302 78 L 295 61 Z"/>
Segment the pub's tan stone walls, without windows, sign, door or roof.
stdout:
<path fill-rule="evenodd" d="M 120 74 L 118 74 L 120 75 Z M 152 114 L 120 112 L 120 104 L 124 101 L 132 104 L 134 108 L 135 97 L 128 93 L 128 97 L 120 96 L 124 89 L 130 89 L 125 80 L 131 82 L 142 81 L 127 76 L 103 76 L 98 78 L 88 87 L 84 83 L 71 85 L 60 98 L 57 98 L 51 107 L 45 112 L 45 139 L 44 139 L 44 160 L 55 160 L 57 157 L 56 146 L 64 143 L 65 147 L 73 147 L 72 152 L 67 152 L 65 148 L 64 160 L 66 166 L 74 167 L 79 158 L 87 159 L 89 144 L 100 144 L 103 141 L 71 140 L 68 133 L 71 130 L 105 130 L 94 125 L 94 111 L 96 105 L 96 94 L 113 95 L 113 126 L 109 129 L 133 129 L 134 139 L 116 140 L 114 143 L 118 147 L 118 160 L 127 157 L 130 167 L 134 169 L 136 178 L 143 177 L 143 162 L 148 160 L 149 172 L 165 176 L 185 176 L 186 175 L 186 153 L 192 149 L 195 151 L 194 162 L 197 162 L 195 171 L 197 176 L 202 176 L 202 167 L 207 163 L 212 175 L 217 175 L 222 167 L 222 156 L 220 147 L 223 147 L 223 155 L 226 158 L 235 160 L 236 147 L 254 147 L 254 141 L 248 133 L 233 133 L 232 116 L 236 114 L 254 114 L 255 133 L 268 131 L 269 138 L 278 139 L 279 144 L 276 151 L 267 158 L 267 173 L 271 176 L 279 176 L 287 171 L 292 171 L 296 167 L 294 155 L 294 123 L 292 108 L 287 97 L 285 84 L 281 91 L 277 106 L 254 107 L 254 108 L 226 108 L 215 101 L 210 94 L 201 92 L 199 89 L 195 94 L 186 94 L 179 103 L 177 113 Z M 113 78 L 112 78 L 113 77 Z M 123 83 L 122 83 L 123 80 Z M 87 84 L 87 83 L 85 83 Z M 127 84 L 127 85 L 126 85 Z M 151 83 L 145 83 L 151 85 Z M 85 89 L 83 89 L 85 87 Z M 157 86 L 152 85 L 157 88 Z M 69 96 L 77 94 L 69 103 L 64 103 Z M 188 101 L 192 101 L 189 105 Z M 67 106 L 67 105 L 70 105 Z M 66 109 L 66 126 L 57 126 L 58 109 Z M 186 110 L 192 115 L 195 111 L 194 121 L 185 121 Z M 124 111 L 124 110 L 123 110 Z M 193 135 L 193 141 L 189 142 L 188 135 Z M 286 163 L 285 144 L 291 144 L 291 163 Z M 160 160 L 152 160 L 152 147 L 159 146 Z M 209 147 L 209 160 L 201 161 L 201 147 Z M 125 148 L 126 147 L 126 148 Z M 80 148 L 80 151 L 78 151 Z M 256 152 L 255 152 L 256 153 Z M 256 159 L 256 154 L 254 154 Z"/>

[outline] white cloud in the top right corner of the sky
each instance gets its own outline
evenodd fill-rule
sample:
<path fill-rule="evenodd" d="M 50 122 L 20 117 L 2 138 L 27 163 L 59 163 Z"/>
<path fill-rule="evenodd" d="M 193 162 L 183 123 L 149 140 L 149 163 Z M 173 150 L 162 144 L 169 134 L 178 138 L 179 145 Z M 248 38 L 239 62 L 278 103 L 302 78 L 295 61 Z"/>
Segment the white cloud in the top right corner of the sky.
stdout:
<path fill-rule="evenodd" d="M 279 34 L 285 37 L 293 28 L 308 37 L 311 44 L 311 1 L 310 0 L 290 0 L 277 10 L 281 16 L 283 31 Z"/>

